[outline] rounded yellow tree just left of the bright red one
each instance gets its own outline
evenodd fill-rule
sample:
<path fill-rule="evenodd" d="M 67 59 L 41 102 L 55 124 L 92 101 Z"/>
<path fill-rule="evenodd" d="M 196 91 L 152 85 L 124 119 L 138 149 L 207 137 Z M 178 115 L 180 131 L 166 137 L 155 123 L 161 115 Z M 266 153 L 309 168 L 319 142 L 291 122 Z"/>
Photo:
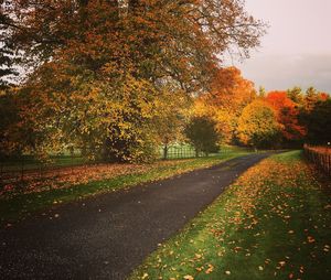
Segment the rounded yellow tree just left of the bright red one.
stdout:
<path fill-rule="evenodd" d="M 276 148 L 281 136 L 280 128 L 274 107 L 257 99 L 244 108 L 237 137 L 242 143 L 254 148 Z"/>

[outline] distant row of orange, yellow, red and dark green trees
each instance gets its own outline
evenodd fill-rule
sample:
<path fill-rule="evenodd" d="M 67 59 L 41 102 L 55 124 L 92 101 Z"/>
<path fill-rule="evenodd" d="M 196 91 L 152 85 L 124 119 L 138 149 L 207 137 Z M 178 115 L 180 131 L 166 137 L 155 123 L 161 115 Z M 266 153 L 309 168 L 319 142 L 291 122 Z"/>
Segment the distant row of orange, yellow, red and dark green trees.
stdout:
<path fill-rule="evenodd" d="M 195 114 L 213 120 L 222 141 L 255 148 L 327 144 L 331 140 L 331 98 L 313 87 L 257 94 L 236 68 L 229 87 L 215 87 L 195 101 Z M 234 82 L 236 77 L 236 82 Z M 231 80 L 227 78 L 227 80 Z M 220 86 L 221 84 L 218 84 Z"/>

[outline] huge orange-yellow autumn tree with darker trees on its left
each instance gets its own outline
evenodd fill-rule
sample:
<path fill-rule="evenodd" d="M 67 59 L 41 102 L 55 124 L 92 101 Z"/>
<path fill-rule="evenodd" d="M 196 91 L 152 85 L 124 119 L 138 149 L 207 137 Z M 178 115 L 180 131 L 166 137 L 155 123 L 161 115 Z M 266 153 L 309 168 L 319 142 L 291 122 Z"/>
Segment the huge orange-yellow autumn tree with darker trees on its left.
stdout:
<path fill-rule="evenodd" d="M 178 140 L 220 57 L 265 33 L 241 0 L 1 1 L 1 153 L 149 161 Z M 24 78 L 22 78 L 24 76 Z M 216 77 L 216 78 L 215 78 Z M 225 80 L 224 78 L 222 78 Z M 189 114 L 190 115 L 190 114 Z"/>

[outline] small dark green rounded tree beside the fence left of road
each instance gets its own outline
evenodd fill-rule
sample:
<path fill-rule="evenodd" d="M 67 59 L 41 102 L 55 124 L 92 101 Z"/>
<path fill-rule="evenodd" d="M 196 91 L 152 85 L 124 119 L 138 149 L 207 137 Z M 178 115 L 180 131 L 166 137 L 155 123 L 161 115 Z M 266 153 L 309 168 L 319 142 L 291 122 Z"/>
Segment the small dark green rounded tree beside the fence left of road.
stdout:
<path fill-rule="evenodd" d="M 201 152 L 207 155 L 211 152 L 218 151 L 220 134 L 215 126 L 215 121 L 209 117 L 192 117 L 186 125 L 184 133 L 194 147 L 196 157 Z"/>

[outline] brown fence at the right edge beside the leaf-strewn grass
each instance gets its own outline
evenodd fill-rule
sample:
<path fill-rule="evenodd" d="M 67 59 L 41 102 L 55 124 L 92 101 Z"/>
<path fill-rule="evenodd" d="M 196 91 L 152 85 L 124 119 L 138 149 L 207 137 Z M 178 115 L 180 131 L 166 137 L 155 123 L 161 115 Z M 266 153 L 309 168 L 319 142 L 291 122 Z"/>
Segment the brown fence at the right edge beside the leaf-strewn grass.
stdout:
<path fill-rule="evenodd" d="M 331 176 L 331 149 L 328 147 L 311 147 L 305 144 L 305 157 L 319 170 Z"/>

